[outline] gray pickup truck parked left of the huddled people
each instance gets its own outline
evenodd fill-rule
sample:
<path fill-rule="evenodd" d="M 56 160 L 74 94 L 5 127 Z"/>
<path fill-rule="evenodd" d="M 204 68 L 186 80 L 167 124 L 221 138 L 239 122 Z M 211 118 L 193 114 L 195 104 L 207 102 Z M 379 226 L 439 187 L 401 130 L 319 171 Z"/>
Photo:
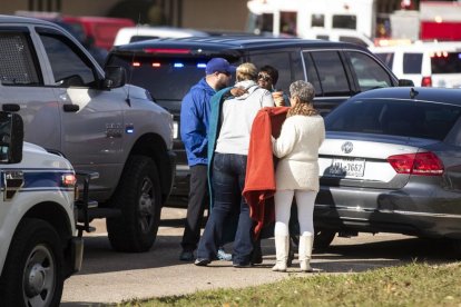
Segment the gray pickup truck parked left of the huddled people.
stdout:
<path fill-rule="evenodd" d="M 174 181 L 171 115 L 56 23 L 1 16 L 0 42 L 0 108 L 22 116 L 26 141 L 99 174 L 79 220 L 106 218 L 115 249 L 148 250 Z"/>

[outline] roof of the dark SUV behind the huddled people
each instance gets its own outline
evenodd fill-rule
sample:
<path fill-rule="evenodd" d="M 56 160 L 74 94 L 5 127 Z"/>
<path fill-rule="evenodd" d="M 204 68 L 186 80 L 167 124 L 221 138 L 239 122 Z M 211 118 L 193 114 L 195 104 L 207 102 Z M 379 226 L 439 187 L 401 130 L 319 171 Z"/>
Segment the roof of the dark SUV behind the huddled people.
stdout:
<path fill-rule="evenodd" d="M 189 49 L 192 53 L 233 53 L 243 50 L 282 49 L 282 48 L 315 48 L 315 49 L 360 49 L 365 48 L 346 42 L 333 42 L 324 40 L 304 40 L 297 38 L 267 38 L 248 36 L 220 36 L 220 37 L 187 37 L 144 40 L 128 44 L 114 47 L 111 52 L 145 52 L 146 49 Z"/>

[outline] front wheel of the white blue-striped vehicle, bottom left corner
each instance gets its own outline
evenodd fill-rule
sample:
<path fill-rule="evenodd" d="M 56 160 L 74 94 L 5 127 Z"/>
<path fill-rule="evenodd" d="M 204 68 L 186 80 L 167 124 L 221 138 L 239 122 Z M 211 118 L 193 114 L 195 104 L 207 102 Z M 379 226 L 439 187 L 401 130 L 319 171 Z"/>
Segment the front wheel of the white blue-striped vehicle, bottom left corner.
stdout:
<path fill-rule="evenodd" d="M 1 306 L 59 306 L 63 255 L 50 224 L 24 218 L 18 226 L 0 278 Z"/>

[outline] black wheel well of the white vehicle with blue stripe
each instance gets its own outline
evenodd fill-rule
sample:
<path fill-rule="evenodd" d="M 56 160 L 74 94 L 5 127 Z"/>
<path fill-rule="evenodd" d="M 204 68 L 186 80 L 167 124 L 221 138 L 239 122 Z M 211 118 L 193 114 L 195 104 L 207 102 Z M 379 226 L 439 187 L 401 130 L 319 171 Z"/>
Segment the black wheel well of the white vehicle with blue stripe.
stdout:
<path fill-rule="evenodd" d="M 29 209 L 26 214 L 28 218 L 39 218 L 49 222 L 61 238 L 62 246 L 67 246 L 68 239 L 72 236 L 69 217 L 66 210 L 56 202 L 41 202 Z"/>

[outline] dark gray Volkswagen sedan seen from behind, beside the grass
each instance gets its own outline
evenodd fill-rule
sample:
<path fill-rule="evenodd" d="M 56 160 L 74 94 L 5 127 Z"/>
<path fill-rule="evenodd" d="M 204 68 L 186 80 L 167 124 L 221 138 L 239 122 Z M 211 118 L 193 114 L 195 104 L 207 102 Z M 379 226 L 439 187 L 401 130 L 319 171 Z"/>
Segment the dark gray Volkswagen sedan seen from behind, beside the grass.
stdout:
<path fill-rule="evenodd" d="M 461 90 L 359 93 L 325 118 L 317 244 L 396 232 L 461 247 Z"/>

